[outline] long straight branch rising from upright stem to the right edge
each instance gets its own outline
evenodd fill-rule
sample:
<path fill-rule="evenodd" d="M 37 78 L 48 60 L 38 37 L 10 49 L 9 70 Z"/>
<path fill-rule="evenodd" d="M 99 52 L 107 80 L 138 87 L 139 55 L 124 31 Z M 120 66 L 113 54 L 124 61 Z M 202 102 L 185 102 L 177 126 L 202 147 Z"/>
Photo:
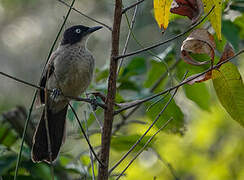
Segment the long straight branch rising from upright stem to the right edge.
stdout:
<path fill-rule="evenodd" d="M 156 97 L 158 97 L 158 96 L 161 96 L 161 95 L 163 95 L 163 94 L 165 94 L 165 93 L 168 93 L 168 92 L 170 92 L 170 91 L 172 91 L 172 90 L 174 90 L 174 89 L 177 89 L 177 88 L 183 86 L 184 84 L 186 84 L 186 83 L 188 83 L 188 82 L 190 82 L 190 81 L 192 81 L 192 80 L 194 80 L 194 79 L 196 79 L 196 78 L 198 78 L 198 77 L 204 75 L 205 73 L 207 73 L 207 72 L 209 72 L 209 71 L 212 71 L 213 69 L 217 69 L 217 68 L 220 67 L 222 64 L 227 63 L 228 61 L 232 60 L 233 58 L 239 56 L 239 55 L 242 54 L 242 53 L 244 53 L 244 49 L 241 50 L 241 51 L 239 51 L 238 53 L 236 53 L 234 56 L 232 56 L 232 57 L 226 59 L 225 61 L 222 61 L 221 63 L 219 63 L 219 64 L 213 66 L 212 68 L 209 68 L 208 70 L 203 71 L 202 73 L 199 73 L 198 75 L 196 75 L 196 76 L 194 76 L 194 77 L 192 77 L 192 78 L 189 78 L 189 79 L 187 79 L 187 80 L 185 80 L 185 81 L 179 83 L 178 85 L 176 85 L 176 86 L 174 86 L 174 87 L 167 88 L 166 90 L 164 90 L 164 91 L 162 91 L 162 92 L 159 92 L 159 93 L 157 93 L 157 94 L 155 94 L 155 95 L 149 96 L 149 97 L 147 97 L 147 98 L 145 98 L 145 99 L 136 100 L 135 103 L 131 103 L 131 105 L 126 106 L 126 107 L 124 107 L 124 108 L 121 108 L 121 109 L 115 111 L 114 114 L 116 115 L 116 114 L 118 114 L 118 113 L 120 113 L 120 112 L 122 112 L 122 111 L 125 111 L 125 110 L 127 110 L 127 109 L 132 108 L 132 107 L 135 107 L 135 106 L 137 106 L 137 105 L 139 105 L 139 104 L 142 104 L 142 103 L 144 103 L 144 102 L 150 101 L 150 100 L 152 100 L 152 99 L 154 99 L 154 98 L 156 98 Z"/>

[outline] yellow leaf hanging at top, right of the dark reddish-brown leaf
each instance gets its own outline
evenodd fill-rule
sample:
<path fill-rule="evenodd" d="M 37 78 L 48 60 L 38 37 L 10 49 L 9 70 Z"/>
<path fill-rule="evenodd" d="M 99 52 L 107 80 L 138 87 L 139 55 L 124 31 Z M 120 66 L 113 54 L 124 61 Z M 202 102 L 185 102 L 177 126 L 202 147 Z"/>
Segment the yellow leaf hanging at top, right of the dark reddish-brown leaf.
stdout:
<path fill-rule="evenodd" d="M 209 15 L 209 21 L 214 28 L 217 37 L 221 40 L 221 16 L 222 16 L 222 0 L 202 0 L 204 4 L 205 13 L 209 12 L 210 9 L 215 5 L 213 12 Z"/>

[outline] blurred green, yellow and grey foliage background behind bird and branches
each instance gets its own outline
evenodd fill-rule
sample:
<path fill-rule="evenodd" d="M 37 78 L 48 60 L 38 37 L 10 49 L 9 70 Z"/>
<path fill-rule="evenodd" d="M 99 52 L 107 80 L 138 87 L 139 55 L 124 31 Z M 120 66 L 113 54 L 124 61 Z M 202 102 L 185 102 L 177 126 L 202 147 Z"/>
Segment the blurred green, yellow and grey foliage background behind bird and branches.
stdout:
<path fill-rule="evenodd" d="M 65 1 L 71 3 L 71 1 Z M 124 6 L 132 2 L 123 1 Z M 74 6 L 81 12 L 112 26 L 114 1 L 82 0 Z M 61 27 L 68 8 L 59 2 L 49 0 L 0 0 L 0 71 L 37 84 L 48 51 Z M 235 52 L 244 48 L 244 1 L 224 1 L 222 17 L 223 40 L 216 41 L 216 60 L 220 57 L 228 41 Z M 127 16 L 130 20 L 133 10 Z M 133 37 L 128 52 L 147 47 L 179 34 L 190 26 L 190 20 L 172 16 L 168 29 L 162 35 L 153 17 L 153 1 L 147 0 L 139 6 Z M 72 11 L 66 27 L 74 24 L 96 26 Z M 203 27 L 210 27 L 205 22 Z M 128 25 L 123 18 L 121 27 L 120 52 L 124 47 Z M 210 32 L 213 30 L 210 28 Z M 202 72 L 208 66 L 193 67 L 180 60 L 179 52 L 186 36 L 169 44 L 126 58 L 118 76 L 117 102 L 126 102 L 160 92 L 179 82 L 186 70 L 188 75 Z M 106 28 L 94 33 L 88 42 L 88 48 L 96 58 L 96 73 L 90 91 L 106 93 L 108 64 L 110 55 L 110 31 Z M 157 56 L 157 57 L 156 57 Z M 232 62 L 238 66 L 244 77 L 244 55 Z M 167 66 L 165 65 L 167 64 Z M 174 65 L 167 73 L 166 68 Z M 159 77 L 164 80 L 154 89 L 152 86 Z M 18 105 L 26 109 L 32 101 L 34 89 L 0 77 L 0 179 L 13 179 L 17 153 L 20 148 L 20 133 L 7 118 Z M 159 99 L 159 98 L 158 98 Z M 157 100 L 158 100 L 157 99 Z M 169 99 L 169 95 L 148 109 L 156 100 L 141 106 L 129 117 L 127 123 L 114 134 L 111 145 L 111 166 L 128 151 L 131 145 L 144 133 L 149 124 Z M 89 129 L 90 140 L 99 151 L 100 128 L 91 107 L 84 103 L 73 102 L 80 119 Z M 17 109 L 19 113 L 19 109 Z M 103 120 L 103 111 L 96 110 L 97 119 Z M 16 111 L 15 111 L 16 113 Z M 35 126 L 40 109 L 32 113 L 32 125 Z M 8 115 L 8 116 L 6 116 Z M 12 116 L 10 116 L 12 117 Z M 147 139 L 152 136 L 169 118 L 169 126 L 156 136 L 149 147 L 139 156 L 121 179 L 159 179 L 159 180 L 243 180 L 244 179 L 244 130 L 233 121 L 220 105 L 211 81 L 185 85 L 179 89 L 173 102 L 163 113 Z M 56 179 L 92 179 L 92 169 L 88 146 L 80 129 L 69 111 L 67 138 L 62 147 L 59 160 L 55 163 Z M 23 127 L 25 118 L 17 118 Z M 114 128 L 121 122 L 115 118 Z M 30 125 L 30 134 L 31 128 Z M 21 130 L 20 130 L 21 131 Z M 31 135 L 28 136 L 31 139 Z M 31 141 L 31 140 L 30 140 Z M 145 144 L 143 141 L 139 148 Z M 136 150 L 113 172 L 121 172 Z M 18 179 L 51 179 L 47 164 L 34 164 L 30 160 L 30 146 L 26 141 L 23 149 Z M 97 171 L 97 166 L 95 166 Z M 111 177 L 115 179 L 115 177 Z"/>

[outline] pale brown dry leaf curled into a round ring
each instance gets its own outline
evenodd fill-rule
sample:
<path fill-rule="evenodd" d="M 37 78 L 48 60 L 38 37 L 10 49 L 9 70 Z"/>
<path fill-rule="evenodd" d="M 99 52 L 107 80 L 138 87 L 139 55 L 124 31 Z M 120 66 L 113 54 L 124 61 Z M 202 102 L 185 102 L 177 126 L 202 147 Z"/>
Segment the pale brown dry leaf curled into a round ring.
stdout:
<path fill-rule="evenodd" d="M 213 62 L 215 47 L 216 45 L 212 34 L 210 34 L 206 29 L 196 29 L 186 38 L 185 41 L 183 41 L 181 46 L 181 57 L 186 63 L 191 65 L 201 66 L 203 64 L 208 64 L 210 61 L 196 61 L 189 53 L 207 54 Z"/>

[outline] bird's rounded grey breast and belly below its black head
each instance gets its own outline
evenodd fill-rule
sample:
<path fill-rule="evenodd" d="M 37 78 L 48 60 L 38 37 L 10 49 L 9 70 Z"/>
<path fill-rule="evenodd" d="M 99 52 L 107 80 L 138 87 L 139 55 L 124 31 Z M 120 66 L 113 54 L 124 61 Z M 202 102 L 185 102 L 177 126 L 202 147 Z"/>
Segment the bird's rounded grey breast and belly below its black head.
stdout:
<path fill-rule="evenodd" d="M 78 96 L 92 80 L 94 58 L 85 47 L 65 47 L 54 60 L 54 69 L 57 88 L 65 95 Z"/>

